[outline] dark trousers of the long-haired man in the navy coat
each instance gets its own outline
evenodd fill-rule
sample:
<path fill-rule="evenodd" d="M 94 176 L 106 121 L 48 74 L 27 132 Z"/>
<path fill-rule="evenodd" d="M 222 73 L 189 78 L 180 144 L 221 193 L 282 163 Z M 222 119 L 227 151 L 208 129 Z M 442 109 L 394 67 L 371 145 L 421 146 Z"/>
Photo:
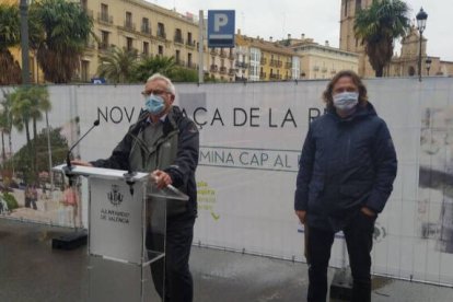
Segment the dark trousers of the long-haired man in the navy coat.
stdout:
<path fill-rule="evenodd" d="M 342 230 L 348 247 L 353 286 L 352 302 L 371 301 L 371 248 L 374 218 L 359 212 Z M 309 302 L 326 301 L 327 267 L 335 233 L 310 228 L 309 232 Z"/>

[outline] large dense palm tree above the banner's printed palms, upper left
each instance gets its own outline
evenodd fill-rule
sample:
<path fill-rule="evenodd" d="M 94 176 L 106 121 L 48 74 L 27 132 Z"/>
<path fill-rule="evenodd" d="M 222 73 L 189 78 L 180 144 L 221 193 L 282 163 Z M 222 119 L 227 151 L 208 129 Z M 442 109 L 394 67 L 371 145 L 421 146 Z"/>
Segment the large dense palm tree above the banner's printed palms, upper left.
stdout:
<path fill-rule="evenodd" d="M 81 5 L 66 0 L 34 1 L 30 7 L 31 45 L 44 78 L 67 83 L 79 69 L 80 56 L 92 35 L 93 20 Z M 40 24 L 37 25 L 37 24 Z M 35 30 L 44 31 L 44 34 Z"/>

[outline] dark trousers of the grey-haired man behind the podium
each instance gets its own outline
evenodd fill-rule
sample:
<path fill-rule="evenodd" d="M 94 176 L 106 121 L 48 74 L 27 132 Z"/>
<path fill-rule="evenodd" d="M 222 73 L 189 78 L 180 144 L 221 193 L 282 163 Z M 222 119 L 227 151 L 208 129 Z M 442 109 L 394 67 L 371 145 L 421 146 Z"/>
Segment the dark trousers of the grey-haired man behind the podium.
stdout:
<path fill-rule="evenodd" d="M 161 298 L 165 292 L 165 302 L 193 301 L 194 281 L 188 262 L 194 237 L 194 223 L 195 219 L 167 221 L 165 258 L 151 264 L 154 288 Z M 162 235 L 149 234 L 147 236 L 148 248 L 160 248 L 161 246 L 156 245 L 162 245 Z"/>

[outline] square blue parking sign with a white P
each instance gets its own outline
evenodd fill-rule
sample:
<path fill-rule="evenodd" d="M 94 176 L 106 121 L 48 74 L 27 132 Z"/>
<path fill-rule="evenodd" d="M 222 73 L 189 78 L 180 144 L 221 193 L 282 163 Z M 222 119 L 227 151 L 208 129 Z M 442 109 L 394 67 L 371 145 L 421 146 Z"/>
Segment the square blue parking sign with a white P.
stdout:
<path fill-rule="evenodd" d="M 234 47 L 234 10 L 208 11 L 208 47 Z"/>

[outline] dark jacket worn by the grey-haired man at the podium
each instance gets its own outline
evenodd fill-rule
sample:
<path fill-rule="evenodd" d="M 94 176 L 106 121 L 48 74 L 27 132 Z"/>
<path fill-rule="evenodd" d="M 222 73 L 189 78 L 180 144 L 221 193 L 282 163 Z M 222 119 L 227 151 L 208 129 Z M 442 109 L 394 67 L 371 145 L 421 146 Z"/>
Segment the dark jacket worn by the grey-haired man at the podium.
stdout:
<path fill-rule="evenodd" d="M 131 165 L 131 150 L 133 148 L 146 148 L 140 140 L 140 133 L 148 126 L 148 113 L 140 115 L 139 120 L 130 126 L 123 140 L 113 150 L 106 160 L 91 162 L 94 166 L 117 170 L 129 170 Z M 175 142 L 174 147 L 173 141 Z M 170 149 L 169 149 L 170 148 Z M 175 150 L 173 151 L 172 148 Z M 146 161 L 153 161 L 154 169 L 169 173 L 173 186 L 188 195 L 188 208 L 176 219 L 191 219 L 197 214 L 197 186 L 195 183 L 195 171 L 198 164 L 199 133 L 197 126 L 185 117 L 177 106 L 173 106 L 163 123 L 163 136 L 153 148 L 143 151 Z M 174 156 L 169 156 L 174 152 Z M 172 158 L 169 162 L 169 158 Z M 136 169 L 133 169 L 136 170 Z M 137 169 L 141 172 L 152 172 Z M 136 170 L 136 171 L 137 171 Z M 175 218 L 172 218 L 175 219 Z"/>

